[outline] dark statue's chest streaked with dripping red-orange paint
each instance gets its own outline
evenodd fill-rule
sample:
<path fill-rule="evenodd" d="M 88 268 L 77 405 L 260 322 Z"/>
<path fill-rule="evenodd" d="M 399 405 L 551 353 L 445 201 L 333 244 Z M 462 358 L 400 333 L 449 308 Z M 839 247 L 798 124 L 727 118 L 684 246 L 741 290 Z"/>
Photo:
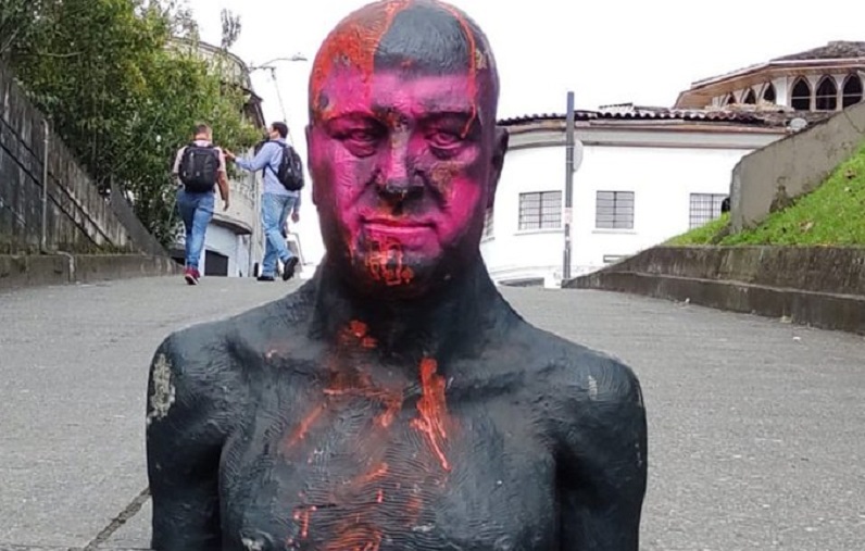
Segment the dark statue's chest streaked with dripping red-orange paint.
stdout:
<path fill-rule="evenodd" d="M 552 548 L 555 468 L 531 423 L 422 383 L 258 406 L 223 450 L 225 549 Z"/>

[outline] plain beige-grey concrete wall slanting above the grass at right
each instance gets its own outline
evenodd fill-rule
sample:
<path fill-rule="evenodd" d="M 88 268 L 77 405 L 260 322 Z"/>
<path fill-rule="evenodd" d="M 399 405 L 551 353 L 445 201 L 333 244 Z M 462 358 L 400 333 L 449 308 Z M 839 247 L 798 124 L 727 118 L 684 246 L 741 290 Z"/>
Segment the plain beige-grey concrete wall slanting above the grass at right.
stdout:
<path fill-rule="evenodd" d="M 812 191 L 865 140 L 865 103 L 856 103 L 739 161 L 730 184 L 734 231 L 753 227 L 791 199 Z"/>

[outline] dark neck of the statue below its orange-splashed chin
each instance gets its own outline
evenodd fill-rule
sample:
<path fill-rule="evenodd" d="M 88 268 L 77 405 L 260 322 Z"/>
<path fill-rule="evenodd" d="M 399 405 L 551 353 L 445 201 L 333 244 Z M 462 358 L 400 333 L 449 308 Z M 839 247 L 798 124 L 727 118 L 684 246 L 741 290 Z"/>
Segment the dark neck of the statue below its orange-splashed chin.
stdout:
<path fill-rule="evenodd" d="M 339 339 L 353 327 L 383 356 L 416 362 L 474 355 L 485 331 L 503 328 L 513 313 L 478 258 L 459 277 L 415 299 L 362 295 L 325 258 L 318 272 L 312 330 Z"/>

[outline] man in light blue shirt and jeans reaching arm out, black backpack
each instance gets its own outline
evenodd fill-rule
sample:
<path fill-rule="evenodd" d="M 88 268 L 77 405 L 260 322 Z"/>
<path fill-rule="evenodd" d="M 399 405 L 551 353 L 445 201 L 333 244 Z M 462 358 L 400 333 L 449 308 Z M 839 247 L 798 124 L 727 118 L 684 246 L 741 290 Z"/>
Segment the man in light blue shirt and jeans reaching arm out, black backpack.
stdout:
<path fill-rule="evenodd" d="M 283 280 L 294 275 L 299 259 L 286 245 L 284 228 L 288 222 L 300 221 L 300 190 L 303 189 L 303 163 L 300 155 L 287 141 L 288 126 L 273 123 L 268 128 L 268 140 L 256 148 L 251 160 L 240 159 L 230 151 L 225 156 L 245 171 L 263 171 L 264 190 L 261 201 L 261 222 L 266 237 L 259 281 L 276 279 L 276 261 L 283 262 Z"/>

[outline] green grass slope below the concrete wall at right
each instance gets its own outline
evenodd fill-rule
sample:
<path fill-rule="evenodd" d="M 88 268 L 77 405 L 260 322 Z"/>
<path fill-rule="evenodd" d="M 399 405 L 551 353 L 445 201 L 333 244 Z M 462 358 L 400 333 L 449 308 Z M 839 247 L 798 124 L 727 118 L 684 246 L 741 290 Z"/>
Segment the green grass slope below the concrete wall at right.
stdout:
<path fill-rule="evenodd" d="M 822 186 L 755 228 L 729 234 L 729 215 L 724 214 L 665 245 L 865 246 L 865 146 Z"/>

